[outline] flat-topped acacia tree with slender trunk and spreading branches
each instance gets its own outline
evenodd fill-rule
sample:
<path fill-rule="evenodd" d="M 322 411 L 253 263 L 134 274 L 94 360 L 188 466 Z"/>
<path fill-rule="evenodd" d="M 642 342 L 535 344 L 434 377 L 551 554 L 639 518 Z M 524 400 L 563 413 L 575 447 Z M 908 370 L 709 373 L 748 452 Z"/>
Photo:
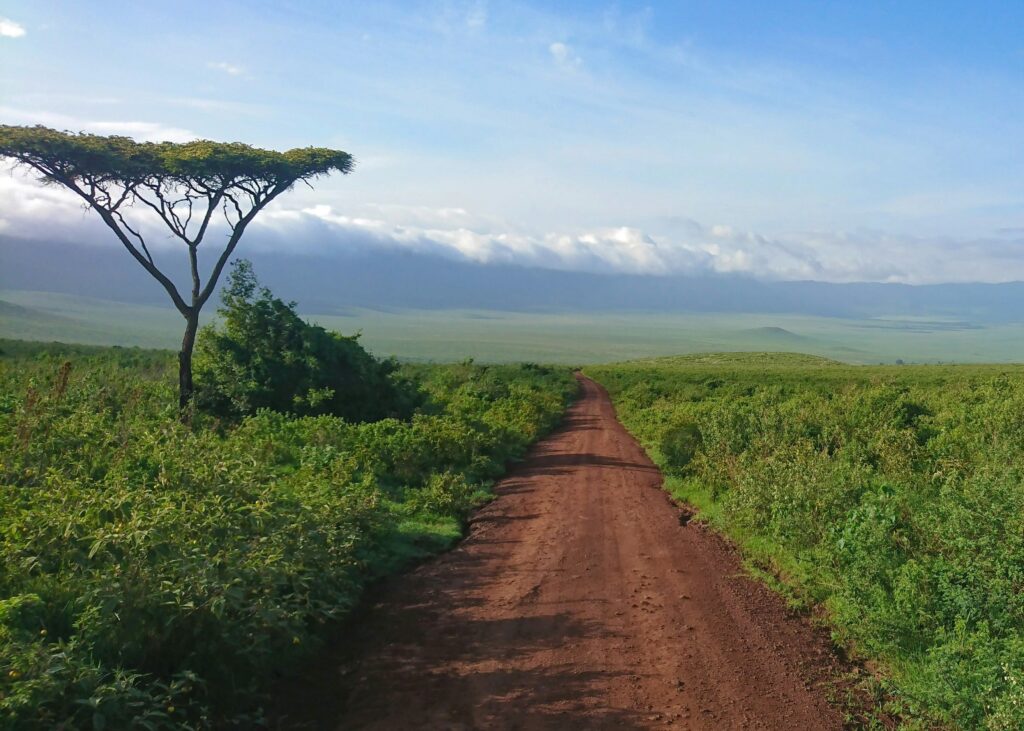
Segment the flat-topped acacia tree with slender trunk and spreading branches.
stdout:
<path fill-rule="evenodd" d="M 213 294 L 246 227 L 298 181 L 332 171 L 349 173 L 348 153 L 301 147 L 279 153 L 241 142 L 135 142 L 129 137 L 60 132 L 47 127 L 0 125 L 0 157 L 39 173 L 44 184 L 74 191 L 170 295 L 185 318 L 178 353 L 178 405 L 186 418 L 193 398 L 193 348 L 199 313 Z M 147 231 L 125 215 L 140 210 L 166 226 L 188 254 L 190 290 L 182 295 L 157 265 Z M 218 215 L 219 214 L 219 215 Z M 214 221 L 227 224 L 226 242 L 203 282 L 199 248 Z M 159 224 L 158 224 L 159 225 Z M 151 242 L 152 243 L 152 242 Z"/>

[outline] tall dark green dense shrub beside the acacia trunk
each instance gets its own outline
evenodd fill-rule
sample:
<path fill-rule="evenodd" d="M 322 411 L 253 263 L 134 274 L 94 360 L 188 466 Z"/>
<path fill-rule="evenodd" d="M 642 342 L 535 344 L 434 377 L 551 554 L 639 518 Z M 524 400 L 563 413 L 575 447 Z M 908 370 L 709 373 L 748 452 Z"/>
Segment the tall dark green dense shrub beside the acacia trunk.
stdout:
<path fill-rule="evenodd" d="M 196 346 L 197 404 L 220 416 L 260 408 L 349 421 L 406 416 L 413 394 L 358 343 L 309 325 L 294 302 L 260 287 L 252 264 L 232 263 L 221 294 L 220 321 Z"/>

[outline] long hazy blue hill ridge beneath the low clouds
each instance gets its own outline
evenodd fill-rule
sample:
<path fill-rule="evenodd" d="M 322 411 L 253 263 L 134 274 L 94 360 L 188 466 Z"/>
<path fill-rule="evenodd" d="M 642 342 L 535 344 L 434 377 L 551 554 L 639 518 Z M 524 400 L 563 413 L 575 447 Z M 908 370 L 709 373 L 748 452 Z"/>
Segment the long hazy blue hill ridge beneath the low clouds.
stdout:
<path fill-rule="evenodd" d="M 898 315 L 938 327 L 1024 321 L 1024 283 L 912 287 L 762 282 L 740 276 L 645 276 L 482 265 L 394 250 L 337 254 L 247 250 L 256 271 L 302 310 L 492 309 L 520 312 L 786 313 L 825 317 Z M 184 255 L 163 254 L 184 278 Z M 38 290 L 167 305 L 159 285 L 116 246 L 0 236 L 0 289 Z M 774 337 L 769 333 L 766 337 Z"/>

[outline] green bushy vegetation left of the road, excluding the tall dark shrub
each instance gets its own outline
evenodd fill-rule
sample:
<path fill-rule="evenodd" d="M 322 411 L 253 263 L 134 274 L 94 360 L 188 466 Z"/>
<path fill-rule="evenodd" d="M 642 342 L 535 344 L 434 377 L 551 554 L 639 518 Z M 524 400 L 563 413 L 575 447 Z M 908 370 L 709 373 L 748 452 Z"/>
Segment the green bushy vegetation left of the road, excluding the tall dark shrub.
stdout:
<path fill-rule="evenodd" d="M 171 353 L 0 341 L 0 726 L 259 722 L 360 588 L 451 545 L 574 393 L 407 365 L 409 419 L 179 423 Z"/>

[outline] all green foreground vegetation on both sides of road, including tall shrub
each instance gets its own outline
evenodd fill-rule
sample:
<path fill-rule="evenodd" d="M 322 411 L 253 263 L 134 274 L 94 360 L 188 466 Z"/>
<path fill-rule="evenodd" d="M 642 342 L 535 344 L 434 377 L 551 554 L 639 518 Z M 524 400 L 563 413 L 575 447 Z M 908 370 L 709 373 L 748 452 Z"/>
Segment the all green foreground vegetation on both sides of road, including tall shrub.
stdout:
<path fill-rule="evenodd" d="M 201 338 L 187 424 L 168 351 L 0 343 L 5 727 L 269 723 L 275 683 L 455 545 L 578 393 L 565 365 L 379 360 L 252 292 Z M 828 634 L 846 725 L 1024 727 L 1024 369 L 585 373 L 694 522 Z"/>

